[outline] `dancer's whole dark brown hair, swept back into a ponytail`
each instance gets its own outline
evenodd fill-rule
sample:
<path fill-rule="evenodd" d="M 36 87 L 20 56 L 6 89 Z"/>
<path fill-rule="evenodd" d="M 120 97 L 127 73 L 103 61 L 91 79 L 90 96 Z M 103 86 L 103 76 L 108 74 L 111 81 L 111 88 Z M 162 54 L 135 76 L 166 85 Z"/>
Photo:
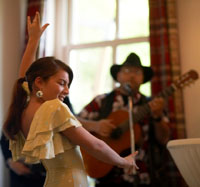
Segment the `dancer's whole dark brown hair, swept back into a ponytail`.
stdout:
<path fill-rule="evenodd" d="M 44 57 L 36 60 L 27 70 L 25 78 L 19 78 L 16 81 L 8 115 L 3 124 L 3 131 L 8 138 L 15 139 L 15 135 L 20 130 L 22 112 L 27 105 L 27 93 L 22 87 L 23 82 L 28 82 L 29 90 L 32 92 L 32 86 L 37 77 L 41 77 L 43 80 L 48 80 L 61 69 L 68 73 L 68 87 L 70 87 L 73 80 L 73 72 L 71 68 L 54 57 Z"/>

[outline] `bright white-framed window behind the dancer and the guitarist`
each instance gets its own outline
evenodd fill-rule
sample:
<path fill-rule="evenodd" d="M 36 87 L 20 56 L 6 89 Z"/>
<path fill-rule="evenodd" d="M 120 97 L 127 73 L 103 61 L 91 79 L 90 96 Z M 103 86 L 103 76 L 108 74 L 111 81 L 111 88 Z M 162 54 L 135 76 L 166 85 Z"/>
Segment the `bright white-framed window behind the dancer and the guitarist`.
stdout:
<path fill-rule="evenodd" d="M 52 23 L 47 55 L 55 51 L 72 67 L 70 100 L 76 113 L 94 96 L 116 86 L 110 67 L 123 63 L 131 52 L 150 65 L 147 0 L 48 0 L 47 4 L 47 20 Z M 150 95 L 150 83 L 142 85 L 141 92 Z"/>

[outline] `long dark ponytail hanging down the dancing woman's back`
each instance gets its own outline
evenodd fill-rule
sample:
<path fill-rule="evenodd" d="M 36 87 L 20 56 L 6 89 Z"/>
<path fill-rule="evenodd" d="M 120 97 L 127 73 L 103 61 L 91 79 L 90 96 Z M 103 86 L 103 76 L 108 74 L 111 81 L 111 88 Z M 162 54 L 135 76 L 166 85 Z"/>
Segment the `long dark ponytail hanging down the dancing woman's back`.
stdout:
<path fill-rule="evenodd" d="M 3 131 L 10 139 L 15 139 L 15 135 L 20 130 L 22 112 L 27 105 L 28 95 L 22 87 L 24 81 L 25 78 L 20 78 L 14 85 L 11 104 L 3 124 Z"/>

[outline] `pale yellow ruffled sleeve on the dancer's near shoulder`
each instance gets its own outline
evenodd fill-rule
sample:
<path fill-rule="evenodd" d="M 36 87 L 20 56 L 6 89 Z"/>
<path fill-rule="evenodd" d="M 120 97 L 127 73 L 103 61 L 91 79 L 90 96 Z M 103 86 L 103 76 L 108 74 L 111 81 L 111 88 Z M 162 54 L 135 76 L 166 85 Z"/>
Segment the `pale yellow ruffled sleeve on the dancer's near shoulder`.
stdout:
<path fill-rule="evenodd" d="M 55 99 L 46 101 L 35 113 L 22 155 L 27 163 L 54 158 L 57 154 L 75 147 L 60 132 L 81 124 L 67 105 Z"/>

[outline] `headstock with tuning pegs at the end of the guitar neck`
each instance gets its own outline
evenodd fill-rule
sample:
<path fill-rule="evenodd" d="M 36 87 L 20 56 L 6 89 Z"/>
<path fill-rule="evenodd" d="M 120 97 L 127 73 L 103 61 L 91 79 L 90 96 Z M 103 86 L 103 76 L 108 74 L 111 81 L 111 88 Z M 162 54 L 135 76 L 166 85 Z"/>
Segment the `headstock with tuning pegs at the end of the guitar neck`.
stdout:
<path fill-rule="evenodd" d="M 183 88 L 190 85 L 199 78 L 198 73 L 195 70 L 190 70 L 187 73 L 184 73 L 180 78 L 175 81 L 174 85 L 176 88 Z"/>

